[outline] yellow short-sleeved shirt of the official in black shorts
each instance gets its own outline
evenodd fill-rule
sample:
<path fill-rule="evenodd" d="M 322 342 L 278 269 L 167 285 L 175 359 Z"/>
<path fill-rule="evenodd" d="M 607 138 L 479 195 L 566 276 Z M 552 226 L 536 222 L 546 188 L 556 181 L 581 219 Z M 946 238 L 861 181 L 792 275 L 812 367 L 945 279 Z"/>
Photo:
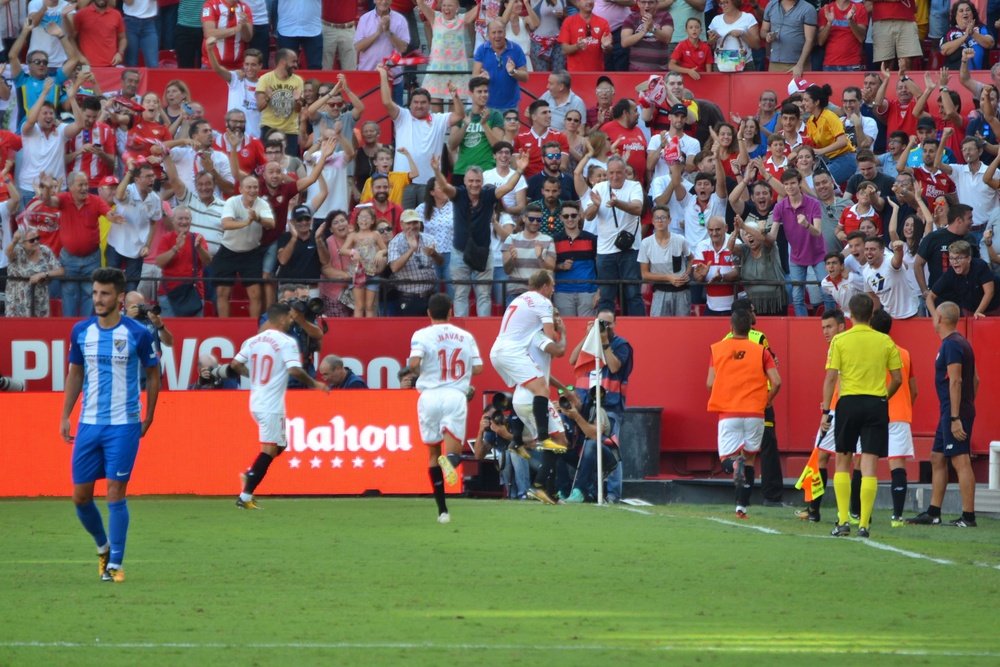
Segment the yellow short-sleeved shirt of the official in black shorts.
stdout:
<path fill-rule="evenodd" d="M 841 396 L 885 397 L 886 371 L 902 366 L 892 339 L 866 324 L 855 324 L 834 336 L 826 357 L 826 369 L 840 373 Z"/>

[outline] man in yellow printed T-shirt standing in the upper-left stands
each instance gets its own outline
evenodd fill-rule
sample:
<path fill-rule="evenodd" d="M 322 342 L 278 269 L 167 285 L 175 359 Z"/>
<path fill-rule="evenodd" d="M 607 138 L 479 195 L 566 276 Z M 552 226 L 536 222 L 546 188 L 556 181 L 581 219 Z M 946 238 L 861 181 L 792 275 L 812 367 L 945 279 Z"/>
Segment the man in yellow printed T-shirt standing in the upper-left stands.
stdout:
<path fill-rule="evenodd" d="M 302 108 L 302 77 L 295 73 L 299 56 L 289 49 L 274 54 L 274 69 L 257 82 L 257 109 L 261 112 L 261 136 L 272 131 L 285 135 L 285 152 L 299 155 L 299 111 Z"/>

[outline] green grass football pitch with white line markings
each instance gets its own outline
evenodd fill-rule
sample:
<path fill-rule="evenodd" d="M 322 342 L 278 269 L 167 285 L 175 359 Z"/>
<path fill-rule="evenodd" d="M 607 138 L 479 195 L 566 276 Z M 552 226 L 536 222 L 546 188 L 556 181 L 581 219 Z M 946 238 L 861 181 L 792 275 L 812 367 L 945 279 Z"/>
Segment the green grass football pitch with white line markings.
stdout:
<path fill-rule="evenodd" d="M 1000 521 L 879 515 L 866 541 L 828 507 L 261 503 L 130 499 L 111 584 L 69 500 L 0 501 L 0 665 L 1000 664 Z"/>

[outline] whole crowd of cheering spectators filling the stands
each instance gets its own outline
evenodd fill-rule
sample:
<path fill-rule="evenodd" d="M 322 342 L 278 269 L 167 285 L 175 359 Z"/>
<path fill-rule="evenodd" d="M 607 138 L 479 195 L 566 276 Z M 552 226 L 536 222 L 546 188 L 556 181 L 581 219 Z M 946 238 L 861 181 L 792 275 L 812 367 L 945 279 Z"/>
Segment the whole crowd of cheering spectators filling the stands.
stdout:
<path fill-rule="evenodd" d="M 164 316 L 259 317 L 279 281 L 306 285 L 329 317 L 423 315 L 439 290 L 457 315 L 484 316 L 540 268 L 564 315 L 726 314 L 746 294 L 758 314 L 802 316 L 856 291 L 896 318 L 942 299 L 997 310 L 1000 69 L 991 84 L 970 75 L 995 46 L 983 2 L 0 11 L 8 315 L 88 313 L 81 285 L 99 266 Z M 940 71 L 915 80 L 918 59 Z M 134 67 L 170 61 L 221 79 L 223 126 L 182 77 L 162 97 L 140 89 Z M 304 72 L 320 66 L 342 73 Z M 121 67 L 120 88 L 102 91 L 95 67 Z M 792 79 L 753 115 L 685 85 L 752 69 Z M 378 72 L 391 135 L 354 70 Z M 835 99 L 806 80 L 815 70 L 856 71 L 857 86 Z M 522 116 L 532 71 L 548 90 Z M 574 73 L 599 71 L 662 78 L 574 90 Z"/>

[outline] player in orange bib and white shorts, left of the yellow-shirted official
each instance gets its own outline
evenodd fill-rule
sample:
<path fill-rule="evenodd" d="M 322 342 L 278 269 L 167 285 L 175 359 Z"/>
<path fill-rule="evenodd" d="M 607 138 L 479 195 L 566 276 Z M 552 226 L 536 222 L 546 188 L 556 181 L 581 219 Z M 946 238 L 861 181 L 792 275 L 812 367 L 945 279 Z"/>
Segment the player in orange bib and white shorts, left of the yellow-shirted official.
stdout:
<path fill-rule="evenodd" d="M 736 458 L 736 518 L 747 518 L 753 490 L 753 464 L 764 437 L 764 410 L 781 389 L 774 356 L 749 339 L 753 315 L 733 311 L 729 321 L 732 338 L 712 345 L 708 369 L 709 412 L 719 413 L 719 459 Z"/>

